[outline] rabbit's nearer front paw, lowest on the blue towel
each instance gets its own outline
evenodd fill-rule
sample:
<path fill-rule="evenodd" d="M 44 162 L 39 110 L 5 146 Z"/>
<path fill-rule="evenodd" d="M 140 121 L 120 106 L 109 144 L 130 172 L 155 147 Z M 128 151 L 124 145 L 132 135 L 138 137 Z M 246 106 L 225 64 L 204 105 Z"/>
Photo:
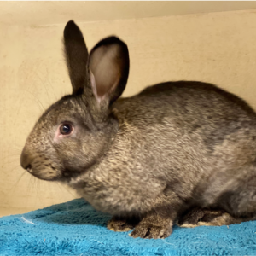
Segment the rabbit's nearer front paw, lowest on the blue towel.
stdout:
<path fill-rule="evenodd" d="M 158 239 L 166 238 L 172 234 L 170 226 L 154 226 L 154 224 L 138 224 L 130 236 L 137 238 Z"/>

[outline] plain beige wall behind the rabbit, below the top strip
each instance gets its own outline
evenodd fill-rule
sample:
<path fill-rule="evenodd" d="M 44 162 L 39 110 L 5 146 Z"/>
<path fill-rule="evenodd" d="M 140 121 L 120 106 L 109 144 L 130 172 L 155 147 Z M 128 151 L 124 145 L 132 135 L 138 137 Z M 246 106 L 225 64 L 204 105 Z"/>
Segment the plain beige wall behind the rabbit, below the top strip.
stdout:
<path fill-rule="evenodd" d="M 128 44 L 131 75 L 125 96 L 157 82 L 200 80 L 238 94 L 256 109 L 255 10 L 78 24 L 90 49 L 111 34 Z M 31 177 L 19 164 L 43 108 L 71 91 L 62 55 L 64 26 L 0 25 L 1 207 L 32 209 L 75 196 L 57 183 Z"/>

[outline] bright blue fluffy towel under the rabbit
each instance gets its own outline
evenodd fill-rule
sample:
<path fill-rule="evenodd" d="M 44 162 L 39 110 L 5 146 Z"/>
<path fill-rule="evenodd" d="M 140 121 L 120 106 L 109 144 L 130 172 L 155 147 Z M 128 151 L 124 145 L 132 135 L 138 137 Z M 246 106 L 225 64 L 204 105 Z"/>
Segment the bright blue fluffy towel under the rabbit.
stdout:
<path fill-rule="evenodd" d="M 0 218 L 0 255 L 256 255 L 256 221 L 174 227 L 166 239 L 146 240 L 108 230 L 109 218 L 83 199 Z"/>

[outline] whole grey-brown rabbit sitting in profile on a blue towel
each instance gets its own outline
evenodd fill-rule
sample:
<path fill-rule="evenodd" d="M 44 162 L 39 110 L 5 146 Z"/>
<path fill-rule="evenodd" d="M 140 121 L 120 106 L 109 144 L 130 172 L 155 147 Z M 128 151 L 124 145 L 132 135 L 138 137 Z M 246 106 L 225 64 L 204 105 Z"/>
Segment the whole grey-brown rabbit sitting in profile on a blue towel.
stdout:
<path fill-rule="evenodd" d="M 109 230 L 135 238 L 166 238 L 179 220 L 200 225 L 207 211 L 218 216 L 212 224 L 253 220 L 256 114 L 247 102 L 198 81 L 121 97 L 130 67 L 122 40 L 104 38 L 89 54 L 70 20 L 64 47 L 73 92 L 27 137 L 20 155 L 27 172 L 67 184 L 112 216 Z"/>

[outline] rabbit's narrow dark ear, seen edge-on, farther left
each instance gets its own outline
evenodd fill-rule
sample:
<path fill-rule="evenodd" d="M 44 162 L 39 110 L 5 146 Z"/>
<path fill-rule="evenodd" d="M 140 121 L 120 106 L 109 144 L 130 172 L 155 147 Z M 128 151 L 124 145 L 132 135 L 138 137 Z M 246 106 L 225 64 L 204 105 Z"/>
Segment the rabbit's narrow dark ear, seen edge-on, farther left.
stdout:
<path fill-rule="evenodd" d="M 64 29 L 64 45 L 73 94 L 83 93 L 87 79 L 88 51 L 79 27 L 70 20 Z"/>

